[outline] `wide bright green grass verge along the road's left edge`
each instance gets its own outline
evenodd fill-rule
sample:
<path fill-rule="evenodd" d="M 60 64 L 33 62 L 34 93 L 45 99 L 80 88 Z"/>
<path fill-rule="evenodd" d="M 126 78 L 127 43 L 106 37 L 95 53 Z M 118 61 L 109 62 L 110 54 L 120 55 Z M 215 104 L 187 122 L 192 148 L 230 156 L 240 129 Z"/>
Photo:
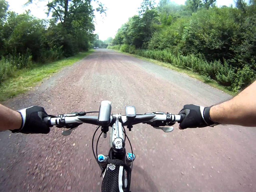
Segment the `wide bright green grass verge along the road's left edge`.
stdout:
<path fill-rule="evenodd" d="M 18 94 L 25 93 L 39 84 L 44 78 L 51 77 L 63 67 L 72 65 L 76 61 L 92 54 L 93 50 L 79 53 L 73 57 L 61 59 L 47 64 L 35 64 L 31 68 L 15 71 L 11 77 L 0 85 L 0 101 L 13 98 Z"/>

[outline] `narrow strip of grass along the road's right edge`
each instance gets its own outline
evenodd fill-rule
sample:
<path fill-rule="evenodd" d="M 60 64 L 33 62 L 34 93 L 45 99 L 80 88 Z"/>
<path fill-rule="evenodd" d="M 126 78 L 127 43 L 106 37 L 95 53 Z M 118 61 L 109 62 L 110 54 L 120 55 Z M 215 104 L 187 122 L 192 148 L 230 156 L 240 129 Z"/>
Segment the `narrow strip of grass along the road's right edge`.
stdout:
<path fill-rule="evenodd" d="M 118 50 L 115 50 L 115 51 L 118 51 Z M 134 54 L 129 54 L 129 53 L 126 53 L 126 52 L 122 52 L 122 51 L 118 51 L 122 54 L 126 54 L 126 55 L 130 55 L 130 56 L 133 56 L 133 57 L 136 57 L 138 59 L 142 59 L 142 60 L 145 60 L 145 61 L 150 61 L 152 63 L 155 63 L 157 65 L 160 65 L 160 66 L 163 66 L 163 67 L 167 67 L 169 69 L 172 69 L 172 70 L 175 70 L 175 71 L 178 71 L 180 73 L 185 73 L 187 74 L 189 77 L 192 77 L 192 78 L 195 78 L 201 82 L 204 82 L 216 89 L 219 89 L 229 95 L 232 95 L 232 96 L 235 96 L 237 95 L 237 93 L 234 93 L 232 91 L 229 91 L 227 90 L 224 86 L 221 86 L 220 84 L 218 84 L 217 82 L 215 82 L 214 80 L 210 80 L 210 79 L 206 79 L 204 76 L 201 76 L 191 70 L 188 70 L 188 69 L 182 69 L 182 68 L 178 68 L 178 67 L 175 67 L 173 65 L 171 65 L 170 63 L 165 63 L 165 62 L 161 62 L 161 61 L 157 61 L 157 60 L 154 60 L 154 59 L 149 59 L 149 58 L 146 58 L 146 57 L 142 57 L 142 56 L 139 56 L 139 55 L 134 55 Z"/>

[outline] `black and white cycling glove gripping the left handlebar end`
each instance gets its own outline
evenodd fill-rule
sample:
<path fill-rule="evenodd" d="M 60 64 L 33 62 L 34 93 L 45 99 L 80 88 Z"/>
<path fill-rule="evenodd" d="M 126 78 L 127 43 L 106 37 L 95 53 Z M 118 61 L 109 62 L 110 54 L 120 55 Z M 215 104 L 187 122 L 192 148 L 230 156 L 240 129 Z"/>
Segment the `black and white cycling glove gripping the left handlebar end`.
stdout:
<path fill-rule="evenodd" d="M 22 117 L 22 125 L 19 129 L 12 130 L 13 133 L 44 133 L 50 132 L 50 128 L 43 121 L 48 117 L 44 108 L 40 106 L 31 106 L 18 111 Z"/>

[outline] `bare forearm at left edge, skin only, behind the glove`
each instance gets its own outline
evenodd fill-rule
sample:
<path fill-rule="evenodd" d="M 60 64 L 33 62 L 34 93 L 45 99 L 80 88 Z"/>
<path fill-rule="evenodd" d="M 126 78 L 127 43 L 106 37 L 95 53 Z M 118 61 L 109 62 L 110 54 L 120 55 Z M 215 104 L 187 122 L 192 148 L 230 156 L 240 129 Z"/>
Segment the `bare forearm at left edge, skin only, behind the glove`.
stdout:
<path fill-rule="evenodd" d="M 13 111 L 0 104 L 0 131 L 19 129 L 22 119 L 17 111 Z"/>

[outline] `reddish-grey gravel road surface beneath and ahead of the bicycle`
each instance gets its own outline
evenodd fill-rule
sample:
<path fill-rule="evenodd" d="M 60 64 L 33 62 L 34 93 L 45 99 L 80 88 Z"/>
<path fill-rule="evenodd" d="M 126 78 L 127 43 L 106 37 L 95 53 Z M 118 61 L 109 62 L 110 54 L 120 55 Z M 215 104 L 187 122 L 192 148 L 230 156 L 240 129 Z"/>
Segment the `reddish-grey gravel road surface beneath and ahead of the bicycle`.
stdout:
<path fill-rule="evenodd" d="M 98 110 L 100 101 L 110 100 L 115 113 L 125 113 L 125 105 L 135 105 L 137 113 L 178 113 L 184 104 L 209 106 L 229 98 L 186 74 L 97 49 L 3 104 L 40 105 L 59 114 Z M 131 191 L 256 191 L 255 127 L 174 127 L 164 133 L 140 124 L 127 132 L 136 155 Z M 0 191 L 100 191 L 94 130 L 83 124 L 66 137 L 56 127 L 48 135 L 2 132 Z M 100 140 L 99 153 L 107 154 L 108 141 Z"/>

